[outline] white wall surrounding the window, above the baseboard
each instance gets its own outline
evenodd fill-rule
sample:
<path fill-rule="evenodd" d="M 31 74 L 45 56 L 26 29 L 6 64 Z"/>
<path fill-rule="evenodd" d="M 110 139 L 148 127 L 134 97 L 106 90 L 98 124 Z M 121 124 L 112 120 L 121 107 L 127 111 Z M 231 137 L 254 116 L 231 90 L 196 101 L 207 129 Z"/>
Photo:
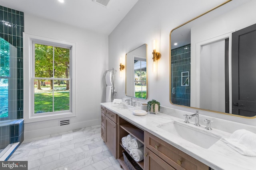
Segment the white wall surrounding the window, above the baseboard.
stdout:
<path fill-rule="evenodd" d="M 99 104 L 106 98 L 104 76 L 108 64 L 108 36 L 78 28 L 76 25 L 64 25 L 24 15 L 25 33 L 76 43 L 76 117 L 70 117 L 70 125 L 64 126 L 59 126 L 59 119 L 34 123 L 26 123 L 25 119 L 25 141 L 34 137 L 99 125 Z M 28 117 L 27 115 L 24 106 L 24 117 Z"/>

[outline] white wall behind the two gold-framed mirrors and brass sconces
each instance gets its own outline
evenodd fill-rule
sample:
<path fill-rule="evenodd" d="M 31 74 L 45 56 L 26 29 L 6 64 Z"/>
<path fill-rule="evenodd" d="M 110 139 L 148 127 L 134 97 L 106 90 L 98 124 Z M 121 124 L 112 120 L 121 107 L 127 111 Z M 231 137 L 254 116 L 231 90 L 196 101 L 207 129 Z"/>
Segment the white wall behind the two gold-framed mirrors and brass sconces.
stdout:
<path fill-rule="evenodd" d="M 169 34 L 172 29 L 225 0 L 139 0 L 108 39 L 108 67 L 119 68 L 119 59 L 128 51 L 148 44 L 148 99 L 155 99 L 161 106 L 195 112 L 195 109 L 174 106 L 169 100 Z M 253 6 L 252 6 L 253 8 Z M 252 10 L 255 11 L 255 10 Z M 255 14 L 254 14 L 255 15 Z M 158 73 L 152 73 L 152 39 L 158 39 L 162 57 Z M 125 78 L 118 78 L 117 98 L 125 97 Z M 200 114 L 254 125 L 256 119 L 246 119 L 220 113 L 200 111 Z"/>

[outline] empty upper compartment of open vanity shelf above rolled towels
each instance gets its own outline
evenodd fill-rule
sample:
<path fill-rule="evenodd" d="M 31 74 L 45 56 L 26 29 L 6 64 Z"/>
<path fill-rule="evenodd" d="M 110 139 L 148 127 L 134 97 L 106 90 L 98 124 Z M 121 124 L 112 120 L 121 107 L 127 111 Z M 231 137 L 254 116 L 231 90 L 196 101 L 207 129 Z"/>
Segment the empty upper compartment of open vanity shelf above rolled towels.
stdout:
<path fill-rule="evenodd" d="M 144 131 L 139 129 L 138 127 L 130 124 L 130 123 L 125 123 L 120 125 L 122 129 L 124 129 L 126 132 L 131 134 L 132 136 L 136 137 L 138 141 L 140 141 L 142 144 L 144 144 Z"/>

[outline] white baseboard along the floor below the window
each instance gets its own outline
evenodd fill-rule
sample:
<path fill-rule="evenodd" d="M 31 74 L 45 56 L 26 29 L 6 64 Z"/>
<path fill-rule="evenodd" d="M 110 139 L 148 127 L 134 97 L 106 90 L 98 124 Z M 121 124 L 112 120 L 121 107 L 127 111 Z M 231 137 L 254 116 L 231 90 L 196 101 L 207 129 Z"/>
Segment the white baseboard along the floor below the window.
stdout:
<path fill-rule="evenodd" d="M 55 127 L 48 127 L 44 129 L 37 129 L 32 131 L 24 131 L 24 143 L 44 139 L 50 137 L 50 135 L 55 133 L 62 133 L 66 131 L 72 131 L 75 129 L 80 129 L 84 127 L 90 127 L 95 125 L 100 125 L 101 119 L 95 119 L 90 121 L 78 122 L 78 123 L 70 123 L 69 125 L 63 126 L 55 126 Z"/>

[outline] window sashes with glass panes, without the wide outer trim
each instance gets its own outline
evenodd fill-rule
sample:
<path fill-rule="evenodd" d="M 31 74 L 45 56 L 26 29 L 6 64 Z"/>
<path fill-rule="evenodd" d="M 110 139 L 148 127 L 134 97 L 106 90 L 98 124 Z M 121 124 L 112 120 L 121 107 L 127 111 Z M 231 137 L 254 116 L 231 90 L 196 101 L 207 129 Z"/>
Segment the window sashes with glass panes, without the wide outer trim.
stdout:
<path fill-rule="evenodd" d="M 33 42 L 34 114 L 70 111 L 70 50 Z"/>

